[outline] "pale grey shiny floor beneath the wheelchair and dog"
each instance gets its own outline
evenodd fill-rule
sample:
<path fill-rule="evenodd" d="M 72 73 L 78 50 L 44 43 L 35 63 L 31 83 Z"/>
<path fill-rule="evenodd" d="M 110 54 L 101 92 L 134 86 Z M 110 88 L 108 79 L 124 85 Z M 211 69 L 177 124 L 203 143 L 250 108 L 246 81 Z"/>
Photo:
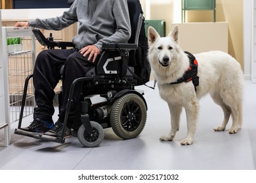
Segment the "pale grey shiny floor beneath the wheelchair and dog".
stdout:
<path fill-rule="evenodd" d="M 152 82 L 150 82 L 152 85 Z M 256 84 L 245 80 L 244 124 L 235 135 L 213 131 L 222 122 L 221 108 L 207 95 L 201 101 L 200 118 L 194 144 L 181 146 L 186 136 L 186 117 L 182 112 L 181 128 L 173 142 L 160 142 L 170 129 L 169 109 L 160 99 L 158 89 L 145 90 L 148 104 L 146 126 L 137 139 L 123 141 L 112 129 L 105 129 L 100 147 L 83 148 L 77 137 L 65 144 L 44 142 L 15 135 L 17 123 L 11 124 L 11 144 L 0 148 L 0 169 L 238 169 L 256 168 Z M 56 119 L 56 116 L 54 116 Z M 29 124 L 31 116 L 23 120 Z M 231 124 L 231 123 L 230 123 Z M 230 127 L 228 124 L 228 128 Z M 0 131 L 0 141 L 3 130 Z"/>

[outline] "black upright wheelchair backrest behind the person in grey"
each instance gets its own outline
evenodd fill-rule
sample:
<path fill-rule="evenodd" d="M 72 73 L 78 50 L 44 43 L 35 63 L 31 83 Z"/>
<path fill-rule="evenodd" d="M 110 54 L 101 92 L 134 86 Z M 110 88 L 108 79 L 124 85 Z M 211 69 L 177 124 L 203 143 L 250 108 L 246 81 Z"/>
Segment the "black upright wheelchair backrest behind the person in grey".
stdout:
<path fill-rule="evenodd" d="M 131 38 L 128 42 L 138 44 L 143 11 L 139 0 L 127 0 L 127 4 L 131 21 Z"/>

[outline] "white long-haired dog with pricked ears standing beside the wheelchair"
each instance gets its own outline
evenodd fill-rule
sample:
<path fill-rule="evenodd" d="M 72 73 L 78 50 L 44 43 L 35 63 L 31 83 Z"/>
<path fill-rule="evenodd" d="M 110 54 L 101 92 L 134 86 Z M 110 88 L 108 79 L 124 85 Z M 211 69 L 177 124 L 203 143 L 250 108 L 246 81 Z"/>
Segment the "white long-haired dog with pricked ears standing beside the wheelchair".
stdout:
<path fill-rule="evenodd" d="M 198 100 L 207 93 L 210 93 L 213 101 L 220 105 L 224 112 L 221 126 L 215 127 L 214 130 L 224 131 L 231 115 L 233 122 L 229 133 L 237 133 L 242 125 L 243 73 L 240 64 L 232 56 L 221 51 L 194 54 L 198 62 L 198 73 L 194 75 L 195 86 L 192 77 L 189 78 L 190 81 L 186 78 L 184 82 L 179 83 L 184 73 L 191 70 L 191 65 L 189 55 L 179 46 L 178 35 L 177 26 L 167 37 L 160 37 L 153 27 L 148 28 L 148 58 L 158 82 L 160 96 L 168 103 L 171 113 L 171 131 L 160 140 L 173 141 L 179 130 L 181 110 L 184 107 L 188 134 L 181 144 L 192 144 L 198 121 Z M 195 63 L 196 61 L 194 66 Z M 199 76 L 198 86 L 196 76 Z"/>

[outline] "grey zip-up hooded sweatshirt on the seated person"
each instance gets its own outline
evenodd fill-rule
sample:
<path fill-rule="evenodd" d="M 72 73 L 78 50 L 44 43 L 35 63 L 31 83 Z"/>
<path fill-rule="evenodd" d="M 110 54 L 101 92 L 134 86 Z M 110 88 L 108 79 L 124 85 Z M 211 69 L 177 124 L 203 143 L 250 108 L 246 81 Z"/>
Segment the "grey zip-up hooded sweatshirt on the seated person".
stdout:
<path fill-rule="evenodd" d="M 102 42 L 127 42 L 131 25 L 127 0 L 75 0 L 62 16 L 29 21 L 40 29 L 61 30 L 79 22 L 78 35 L 73 43 L 78 49 L 95 45 L 102 50 Z"/>

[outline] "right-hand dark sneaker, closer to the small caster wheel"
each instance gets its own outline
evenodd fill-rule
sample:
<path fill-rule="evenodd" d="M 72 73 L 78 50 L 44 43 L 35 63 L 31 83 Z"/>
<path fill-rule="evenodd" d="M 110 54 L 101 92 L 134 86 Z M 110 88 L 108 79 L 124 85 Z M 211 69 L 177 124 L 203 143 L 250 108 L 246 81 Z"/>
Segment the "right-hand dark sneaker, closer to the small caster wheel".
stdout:
<path fill-rule="evenodd" d="M 52 137 L 61 137 L 62 131 L 63 131 L 63 127 L 64 127 L 63 123 L 56 122 L 52 129 L 50 129 L 46 133 L 43 133 L 43 136 L 45 137 L 45 135 L 49 135 L 49 136 L 52 136 Z M 72 136 L 71 128 L 65 127 L 64 137 L 65 138 L 69 138 L 71 136 Z"/>

